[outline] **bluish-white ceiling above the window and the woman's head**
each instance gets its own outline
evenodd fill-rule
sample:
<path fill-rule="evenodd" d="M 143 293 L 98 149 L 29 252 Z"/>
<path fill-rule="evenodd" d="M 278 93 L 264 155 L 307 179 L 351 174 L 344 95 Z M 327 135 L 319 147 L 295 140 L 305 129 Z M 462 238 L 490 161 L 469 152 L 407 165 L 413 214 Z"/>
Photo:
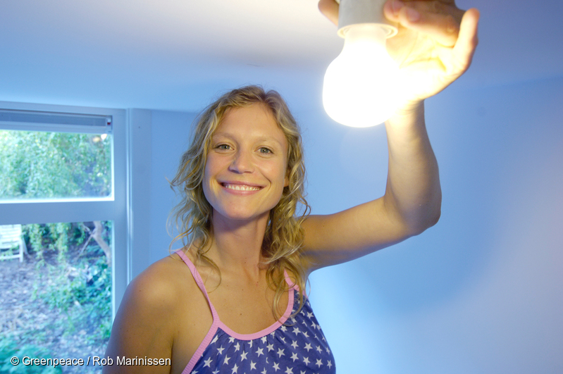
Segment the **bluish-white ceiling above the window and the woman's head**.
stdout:
<path fill-rule="evenodd" d="M 563 2 L 462 0 L 481 11 L 458 87 L 563 75 Z M 199 111 L 258 83 L 320 100 L 342 39 L 316 0 L 3 0 L 0 101 Z"/>

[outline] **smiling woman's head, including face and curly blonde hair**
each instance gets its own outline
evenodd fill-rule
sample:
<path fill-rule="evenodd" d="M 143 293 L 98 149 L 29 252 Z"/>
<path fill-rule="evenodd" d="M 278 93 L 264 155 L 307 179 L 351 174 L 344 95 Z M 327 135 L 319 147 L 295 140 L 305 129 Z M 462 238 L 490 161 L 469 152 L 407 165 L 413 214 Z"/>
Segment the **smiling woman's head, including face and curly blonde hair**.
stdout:
<path fill-rule="evenodd" d="M 187 247 L 197 239 L 198 261 L 215 267 L 206 252 L 210 229 L 220 222 L 210 225 L 211 219 L 221 220 L 221 206 L 247 210 L 240 211 L 242 216 L 237 220 L 244 220 L 245 214 L 255 216 L 247 218 L 260 217 L 259 227 L 265 230 L 257 244 L 270 261 L 287 261 L 297 285 L 304 287 L 301 261 L 294 258 L 302 245 L 301 223 L 309 210 L 304 199 L 302 154 L 297 123 L 277 92 L 266 93 L 261 87 L 250 86 L 225 94 L 202 114 L 192 145 L 182 156 L 180 170 L 172 181 L 182 196 L 185 193 L 175 208 L 182 233 L 177 239 L 189 238 Z M 257 189 L 242 191 L 242 186 Z M 244 201 L 240 201 L 242 197 Z M 254 201 L 254 205 L 247 201 Z M 303 211 L 296 217 L 298 204 Z M 277 287 L 278 300 L 285 282 L 281 274 L 276 280 L 273 275 L 269 272 L 268 278 Z"/>

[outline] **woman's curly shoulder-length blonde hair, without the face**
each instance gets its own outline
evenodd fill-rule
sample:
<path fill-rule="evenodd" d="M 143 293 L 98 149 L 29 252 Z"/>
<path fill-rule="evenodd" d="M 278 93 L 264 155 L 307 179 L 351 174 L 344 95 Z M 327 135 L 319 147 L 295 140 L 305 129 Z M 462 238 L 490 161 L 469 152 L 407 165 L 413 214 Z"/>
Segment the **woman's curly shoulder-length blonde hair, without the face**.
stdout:
<path fill-rule="evenodd" d="M 225 117 L 229 108 L 243 108 L 252 104 L 263 104 L 268 108 L 287 140 L 287 175 L 289 185 L 284 187 L 278 204 L 271 209 L 262 242 L 261 255 L 268 266 L 266 278 L 268 285 L 276 290 L 273 314 L 279 317 L 280 298 L 289 287 L 285 282 L 284 270 L 293 275 L 293 282 L 299 287 L 299 308 L 304 299 L 305 273 L 301 249 L 304 230 L 302 223 L 307 218 L 310 207 L 304 198 L 305 167 L 299 127 L 287 108 L 287 104 L 276 91 L 265 92 L 259 86 L 247 86 L 233 89 L 209 105 L 197 118 L 193 131 L 192 144 L 182 155 L 180 168 L 170 182 L 178 190 L 180 202 L 173 208 L 168 224 L 175 222 L 180 234 L 173 242 L 182 240 L 187 248 L 195 249 L 196 261 L 209 263 L 218 273 L 218 266 L 206 256 L 213 235 L 213 208 L 204 196 L 204 179 L 207 154 L 211 147 L 211 137 Z M 298 206 L 301 204 L 301 206 Z M 299 213 L 299 212 L 300 213 Z M 172 245 L 172 244 L 171 244 Z"/>

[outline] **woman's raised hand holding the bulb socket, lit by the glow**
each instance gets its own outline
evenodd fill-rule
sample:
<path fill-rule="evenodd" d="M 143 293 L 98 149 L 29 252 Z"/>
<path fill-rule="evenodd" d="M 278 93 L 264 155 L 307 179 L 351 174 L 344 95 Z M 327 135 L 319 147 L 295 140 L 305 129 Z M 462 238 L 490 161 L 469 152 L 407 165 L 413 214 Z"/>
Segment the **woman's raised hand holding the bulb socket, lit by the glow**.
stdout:
<path fill-rule="evenodd" d="M 320 0 L 318 8 L 338 23 L 338 4 Z M 471 64 L 477 46 L 479 12 L 462 11 L 454 0 L 388 0 L 385 17 L 398 26 L 388 39 L 390 56 L 400 65 L 407 104 L 438 94 Z"/>

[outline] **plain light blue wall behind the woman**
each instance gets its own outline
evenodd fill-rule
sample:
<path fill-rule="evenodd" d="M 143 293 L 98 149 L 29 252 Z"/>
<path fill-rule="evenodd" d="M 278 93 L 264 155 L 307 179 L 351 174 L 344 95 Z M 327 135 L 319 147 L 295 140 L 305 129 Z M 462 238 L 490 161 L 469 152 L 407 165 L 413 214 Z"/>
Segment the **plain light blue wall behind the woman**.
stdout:
<path fill-rule="evenodd" d="M 563 78 L 451 87 L 426 113 L 443 185 L 438 225 L 311 276 L 338 372 L 562 373 Z M 316 101 L 295 115 L 313 213 L 383 194 L 383 126 L 342 127 Z M 163 177 L 193 118 L 152 114 L 153 260 L 168 253 Z"/>

